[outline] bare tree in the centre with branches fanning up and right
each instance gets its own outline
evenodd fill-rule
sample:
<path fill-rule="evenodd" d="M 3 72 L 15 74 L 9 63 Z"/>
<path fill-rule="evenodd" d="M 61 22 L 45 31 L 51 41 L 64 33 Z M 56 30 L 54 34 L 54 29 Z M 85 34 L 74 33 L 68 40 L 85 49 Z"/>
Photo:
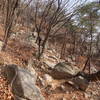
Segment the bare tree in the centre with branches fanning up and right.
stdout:
<path fill-rule="evenodd" d="M 36 2 L 35 28 L 38 33 L 37 40 L 41 40 L 41 31 L 45 34 L 42 43 L 39 42 L 38 58 L 42 56 L 49 36 L 56 34 L 75 14 L 67 12 L 68 3 L 69 0 L 65 2 L 63 0 L 50 0 L 46 2 L 44 8 L 40 9 L 40 1 Z"/>

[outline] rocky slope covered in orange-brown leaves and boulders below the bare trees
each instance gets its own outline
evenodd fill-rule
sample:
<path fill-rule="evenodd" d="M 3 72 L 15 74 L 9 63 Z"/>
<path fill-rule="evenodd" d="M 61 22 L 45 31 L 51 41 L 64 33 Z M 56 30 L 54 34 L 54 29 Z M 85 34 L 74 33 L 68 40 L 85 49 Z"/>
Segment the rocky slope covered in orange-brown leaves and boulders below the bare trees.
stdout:
<path fill-rule="evenodd" d="M 26 42 L 21 32 L 25 30 L 13 35 L 6 50 L 0 51 L 0 100 L 100 100 L 99 80 L 91 82 L 81 73 L 85 58 L 79 63 L 74 56 L 63 60 L 54 48 L 47 48 L 38 61 L 35 38 L 27 36 Z"/>

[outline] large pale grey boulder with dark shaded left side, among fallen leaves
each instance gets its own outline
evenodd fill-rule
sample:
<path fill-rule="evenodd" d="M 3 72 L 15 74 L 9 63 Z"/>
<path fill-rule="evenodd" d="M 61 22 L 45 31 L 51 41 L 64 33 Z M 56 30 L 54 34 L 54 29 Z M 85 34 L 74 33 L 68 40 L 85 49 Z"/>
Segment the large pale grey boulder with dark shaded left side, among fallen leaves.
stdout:
<path fill-rule="evenodd" d="M 44 100 L 40 89 L 35 85 L 35 72 L 17 65 L 7 65 L 6 74 L 15 100 Z"/>

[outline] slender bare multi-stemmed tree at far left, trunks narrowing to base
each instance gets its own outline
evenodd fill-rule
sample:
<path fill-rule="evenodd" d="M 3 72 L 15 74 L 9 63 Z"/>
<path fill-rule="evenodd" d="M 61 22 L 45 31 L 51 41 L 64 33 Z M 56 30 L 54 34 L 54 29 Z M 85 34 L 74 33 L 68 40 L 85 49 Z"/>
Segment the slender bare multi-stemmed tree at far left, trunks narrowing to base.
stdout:
<path fill-rule="evenodd" d="M 19 0 L 6 0 L 5 2 L 5 21 L 4 21 L 4 46 L 2 48 L 2 50 L 5 49 L 7 42 L 8 42 L 8 38 L 10 36 L 10 30 L 12 27 L 12 23 L 14 20 L 14 13 L 16 8 L 18 7 L 18 3 Z"/>

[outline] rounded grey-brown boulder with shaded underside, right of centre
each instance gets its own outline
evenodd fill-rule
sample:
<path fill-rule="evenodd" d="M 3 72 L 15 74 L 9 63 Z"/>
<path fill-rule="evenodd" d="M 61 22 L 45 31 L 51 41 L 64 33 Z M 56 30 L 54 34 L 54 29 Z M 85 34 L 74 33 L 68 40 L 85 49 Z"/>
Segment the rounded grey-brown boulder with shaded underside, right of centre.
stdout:
<path fill-rule="evenodd" d="M 80 70 L 69 62 L 61 62 L 54 66 L 51 75 L 55 79 L 68 79 L 76 75 Z"/>

